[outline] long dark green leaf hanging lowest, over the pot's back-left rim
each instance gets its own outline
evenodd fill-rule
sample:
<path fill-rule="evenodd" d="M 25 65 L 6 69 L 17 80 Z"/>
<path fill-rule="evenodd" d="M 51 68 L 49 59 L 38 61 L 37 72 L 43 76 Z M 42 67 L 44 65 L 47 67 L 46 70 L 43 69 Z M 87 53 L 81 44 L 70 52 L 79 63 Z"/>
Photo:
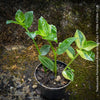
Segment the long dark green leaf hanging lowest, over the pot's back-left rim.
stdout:
<path fill-rule="evenodd" d="M 47 57 L 41 56 L 41 55 L 39 55 L 38 58 L 39 58 L 40 62 L 45 67 L 47 67 L 49 70 L 51 70 L 52 72 L 54 72 L 54 62 L 52 60 L 50 60 Z"/>

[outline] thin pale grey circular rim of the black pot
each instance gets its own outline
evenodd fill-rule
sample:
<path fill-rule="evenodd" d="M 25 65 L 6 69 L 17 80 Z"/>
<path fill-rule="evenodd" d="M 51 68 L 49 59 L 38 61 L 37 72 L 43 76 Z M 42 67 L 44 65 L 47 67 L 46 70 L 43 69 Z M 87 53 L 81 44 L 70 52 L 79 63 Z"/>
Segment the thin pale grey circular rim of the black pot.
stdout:
<path fill-rule="evenodd" d="M 58 60 L 57 60 L 57 61 L 58 61 Z M 59 62 L 64 63 L 64 62 L 62 62 L 62 61 L 59 61 Z M 64 63 L 64 64 L 65 64 L 65 63 Z M 43 85 L 41 82 L 38 81 L 38 79 L 37 79 L 37 77 L 36 77 L 36 70 L 37 70 L 37 68 L 38 68 L 40 65 L 41 65 L 41 63 L 38 64 L 37 67 L 35 68 L 34 76 L 35 76 L 35 79 L 36 79 L 36 81 L 38 82 L 38 84 L 41 85 L 42 87 L 44 87 L 44 88 L 46 88 L 46 89 L 50 89 L 50 90 L 59 90 L 59 89 L 63 89 L 63 88 L 65 88 L 65 87 L 67 87 L 67 86 L 71 83 L 71 81 L 69 80 L 69 82 L 68 82 L 66 85 L 61 86 L 61 87 L 58 87 L 58 88 L 51 88 L 51 87 L 47 87 L 47 86 Z"/>

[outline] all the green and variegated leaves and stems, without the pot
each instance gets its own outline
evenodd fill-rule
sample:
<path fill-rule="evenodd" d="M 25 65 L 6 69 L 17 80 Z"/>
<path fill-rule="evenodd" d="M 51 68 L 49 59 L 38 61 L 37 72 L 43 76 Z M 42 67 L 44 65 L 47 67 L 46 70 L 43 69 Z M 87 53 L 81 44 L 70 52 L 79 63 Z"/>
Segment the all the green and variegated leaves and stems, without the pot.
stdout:
<path fill-rule="evenodd" d="M 35 32 L 30 32 L 28 28 L 31 26 L 32 22 L 33 11 L 28 11 L 23 14 L 21 10 L 18 10 L 15 14 L 15 21 L 7 20 L 6 24 L 15 23 L 25 28 L 25 33 L 33 40 L 33 43 L 36 46 L 36 49 L 39 53 L 38 58 L 43 64 L 45 72 L 47 71 L 47 68 L 55 73 L 55 76 L 57 75 L 57 55 L 63 54 L 64 52 L 68 54 L 71 61 L 62 71 L 62 75 L 64 76 L 64 78 L 71 81 L 73 81 L 74 79 L 74 70 L 71 69 L 69 66 L 77 58 L 78 55 L 80 55 L 83 59 L 94 61 L 95 54 L 91 50 L 97 46 L 97 43 L 94 41 L 87 41 L 85 35 L 81 31 L 76 30 L 74 37 L 67 38 L 64 41 L 60 42 L 55 50 L 52 45 L 52 41 L 58 43 L 56 27 L 54 25 L 48 24 L 43 17 L 40 17 L 38 20 L 38 30 Z M 43 45 L 39 49 L 37 43 L 34 40 L 37 35 L 40 35 L 42 39 L 47 40 L 49 45 Z M 77 54 L 75 54 L 75 50 L 71 47 L 71 44 L 74 41 L 76 43 L 76 46 L 78 47 L 78 49 L 76 49 Z M 52 49 L 54 54 L 54 62 L 46 57 L 50 48 Z"/>

